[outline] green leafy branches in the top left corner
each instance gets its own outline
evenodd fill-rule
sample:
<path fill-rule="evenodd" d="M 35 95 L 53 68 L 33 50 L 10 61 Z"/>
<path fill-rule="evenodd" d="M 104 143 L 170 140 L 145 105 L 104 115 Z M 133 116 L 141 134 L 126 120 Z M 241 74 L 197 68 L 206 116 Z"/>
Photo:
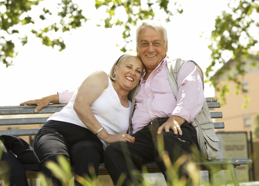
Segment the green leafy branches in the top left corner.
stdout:
<path fill-rule="evenodd" d="M 19 38 L 22 45 L 27 43 L 28 37 L 24 35 L 19 37 L 18 27 L 26 24 L 34 24 L 34 20 L 29 16 L 29 11 L 35 5 L 39 5 L 43 0 L 0 0 L 0 62 L 6 67 L 12 64 L 13 58 L 17 55 L 15 43 L 10 38 Z M 50 38 L 51 32 L 69 31 L 80 27 L 86 22 L 86 17 L 82 15 L 82 10 L 72 0 L 61 0 L 57 4 L 59 23 L 52 23 L 42 29 L 31 32 L 42 39 L 45 46 L 58 46 L 59 50 L 65 49 L 65 43 L 62 38 Z M 43 7 L 41 20 L 46 20 L 52 13 Z M 12 37 L 11 37 L 12 36 Z"/>

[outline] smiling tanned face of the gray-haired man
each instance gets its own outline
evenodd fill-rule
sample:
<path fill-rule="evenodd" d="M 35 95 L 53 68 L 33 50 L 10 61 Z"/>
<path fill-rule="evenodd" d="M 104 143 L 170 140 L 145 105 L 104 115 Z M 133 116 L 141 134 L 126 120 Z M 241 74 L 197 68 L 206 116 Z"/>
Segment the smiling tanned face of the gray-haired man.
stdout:
<path fill-rule="evenodd" d="M 162 31 L 156 31 L 151 27 L 140 29 L 137 52 L 145 65 L 146 71 L 154 70 L 165 58 L 167 52 L 167 43 L 165 45 Z"/>

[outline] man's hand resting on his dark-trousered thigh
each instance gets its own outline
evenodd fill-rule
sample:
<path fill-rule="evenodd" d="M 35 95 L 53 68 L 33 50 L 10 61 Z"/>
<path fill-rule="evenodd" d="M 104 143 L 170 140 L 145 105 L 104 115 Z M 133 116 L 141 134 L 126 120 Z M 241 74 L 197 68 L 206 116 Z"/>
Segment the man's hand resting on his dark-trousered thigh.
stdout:
<path fill-rule="evenodd" d="M 171 116 L 169 119 L 162 124 L 158 130 L 157 134 L 161 134 L 163 131 L 169 132 L 170 129 L 173 130 L 174 134 L 182 135 L 181 125 L 185 122 L 185 119 L 183 119 L 180 116 Z"/>

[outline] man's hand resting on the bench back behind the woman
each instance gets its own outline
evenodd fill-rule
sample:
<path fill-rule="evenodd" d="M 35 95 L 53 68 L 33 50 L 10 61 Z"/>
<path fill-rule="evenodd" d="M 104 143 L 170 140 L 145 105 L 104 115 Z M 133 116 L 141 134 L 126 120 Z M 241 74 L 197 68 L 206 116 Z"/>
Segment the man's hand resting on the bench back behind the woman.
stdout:
<path fill-rule="evenodd" d="M 38 113 L 43 107 L 47 106 L 49 103 L 59 103 L 58 94 L 49 95 L 40 99 L 25 101 L 20 103 L 20 105 L 38 105 L 34 112 Z"/>

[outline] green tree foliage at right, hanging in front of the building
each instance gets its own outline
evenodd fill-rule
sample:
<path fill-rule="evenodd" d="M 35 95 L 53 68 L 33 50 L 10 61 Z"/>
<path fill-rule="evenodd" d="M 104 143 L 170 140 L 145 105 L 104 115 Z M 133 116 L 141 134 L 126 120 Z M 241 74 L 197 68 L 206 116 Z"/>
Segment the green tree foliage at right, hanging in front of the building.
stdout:
<path fill-rule="evenodd" d="M 227 79 L 236 83 L 236 93 L 241 90 L 241 82 L 238 80 L 240 75 L 245 75 L 245 61 L 255 59 L 258 55 L 250 55 L 249 49 L 258 43 L 259 36 L 259 0 L 230 0 L 228 4 L 230 11 L 223 11 L 217 16 L 215 29 L 211 34 L 211 45 L 209 48 L 212 51 L 210 66 L 206 69 L 205 75 L 207 82 L 211 81 L 216 91 L 220 93 L 220 97 L 225 98 L 229 92 L 229 87 L 219 86 L 218 78 L 221 75 L 227 75 Z M 253 32 L 256 30 L 256 32 Z M 224 56 L 232 56 L 235 59 L 235 73 L 229 75 L 230 68 L 226 64 Z M 220 64 L 221 69 L 214 73 L 214 67 Z M 259 65 L 254 60 L 251 68 Z"/>

